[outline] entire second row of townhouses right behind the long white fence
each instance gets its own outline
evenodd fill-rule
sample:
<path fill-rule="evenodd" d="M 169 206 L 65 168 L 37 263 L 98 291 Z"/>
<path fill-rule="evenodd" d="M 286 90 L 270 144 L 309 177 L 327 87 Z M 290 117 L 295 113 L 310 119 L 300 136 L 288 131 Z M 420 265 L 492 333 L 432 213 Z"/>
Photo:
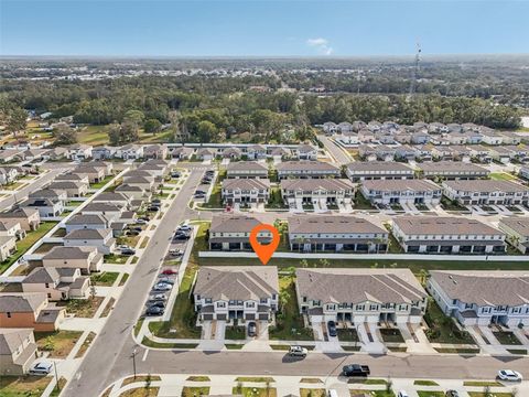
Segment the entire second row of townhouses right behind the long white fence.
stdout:
<path fill-rule="evenodd" d="M 208 232 L 209 249 L 251 250 L 249 235 L 259 223 L 247 215 L 215 215 Z M 280 249 L 387 253 L 390 234 L 408 254 L 504 254 L 507 243 L 527 254 L 529 218 L 506 217 L 496 228 L 476 219 L 455 216 L 399 216 L 381 225 L 375 217 L 299 215 L 288 219 Z M 270 237 L 262 235 L 262 238 Z"/>

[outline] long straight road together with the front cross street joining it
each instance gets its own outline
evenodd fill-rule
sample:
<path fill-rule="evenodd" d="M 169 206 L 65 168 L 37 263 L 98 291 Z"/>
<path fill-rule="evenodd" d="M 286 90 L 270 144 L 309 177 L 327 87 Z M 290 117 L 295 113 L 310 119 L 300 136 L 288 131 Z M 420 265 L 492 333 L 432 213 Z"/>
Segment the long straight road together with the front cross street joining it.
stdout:
<path fill-rule="evenodd" d="M 98 396 L 115 380 L 132 374 L 131 352 L 136 342 L 132 326 L 153 283 L 164 253 L 171 244 L 177 223 L 194 218 L 187 201 L 203 174 L 192 172 L 172 203 L 164 222 L 156 228 L 127 288 L 118 300 L 106 325 L 88 351 L 77 373 L 62 396 Z M 369 356 L 311 353 L 303 361 L 284 353 L 158 351 L 138 347 L 138 373 L 151 374 L 252 374 L 252 375 L 337 375 L 342 365 L 359 362 L 371 367 L 374 376 L 408 378 L 494 378 L 499 368 L 509 367 L 529 376 L 529 358 L 455 355 Z M 143 360 L 144 358 L 144 360 Z"/>

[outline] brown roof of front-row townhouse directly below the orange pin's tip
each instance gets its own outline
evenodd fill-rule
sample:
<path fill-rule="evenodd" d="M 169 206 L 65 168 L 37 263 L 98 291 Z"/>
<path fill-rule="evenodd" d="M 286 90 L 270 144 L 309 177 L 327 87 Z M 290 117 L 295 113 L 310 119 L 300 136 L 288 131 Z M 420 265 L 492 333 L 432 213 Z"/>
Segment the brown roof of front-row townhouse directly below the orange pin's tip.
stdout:
<path fill-rule="evenodd" d="M 201 267 L 194 293 L 213 300 L 259 300 L 278 294 L 276 266 Z"/>

